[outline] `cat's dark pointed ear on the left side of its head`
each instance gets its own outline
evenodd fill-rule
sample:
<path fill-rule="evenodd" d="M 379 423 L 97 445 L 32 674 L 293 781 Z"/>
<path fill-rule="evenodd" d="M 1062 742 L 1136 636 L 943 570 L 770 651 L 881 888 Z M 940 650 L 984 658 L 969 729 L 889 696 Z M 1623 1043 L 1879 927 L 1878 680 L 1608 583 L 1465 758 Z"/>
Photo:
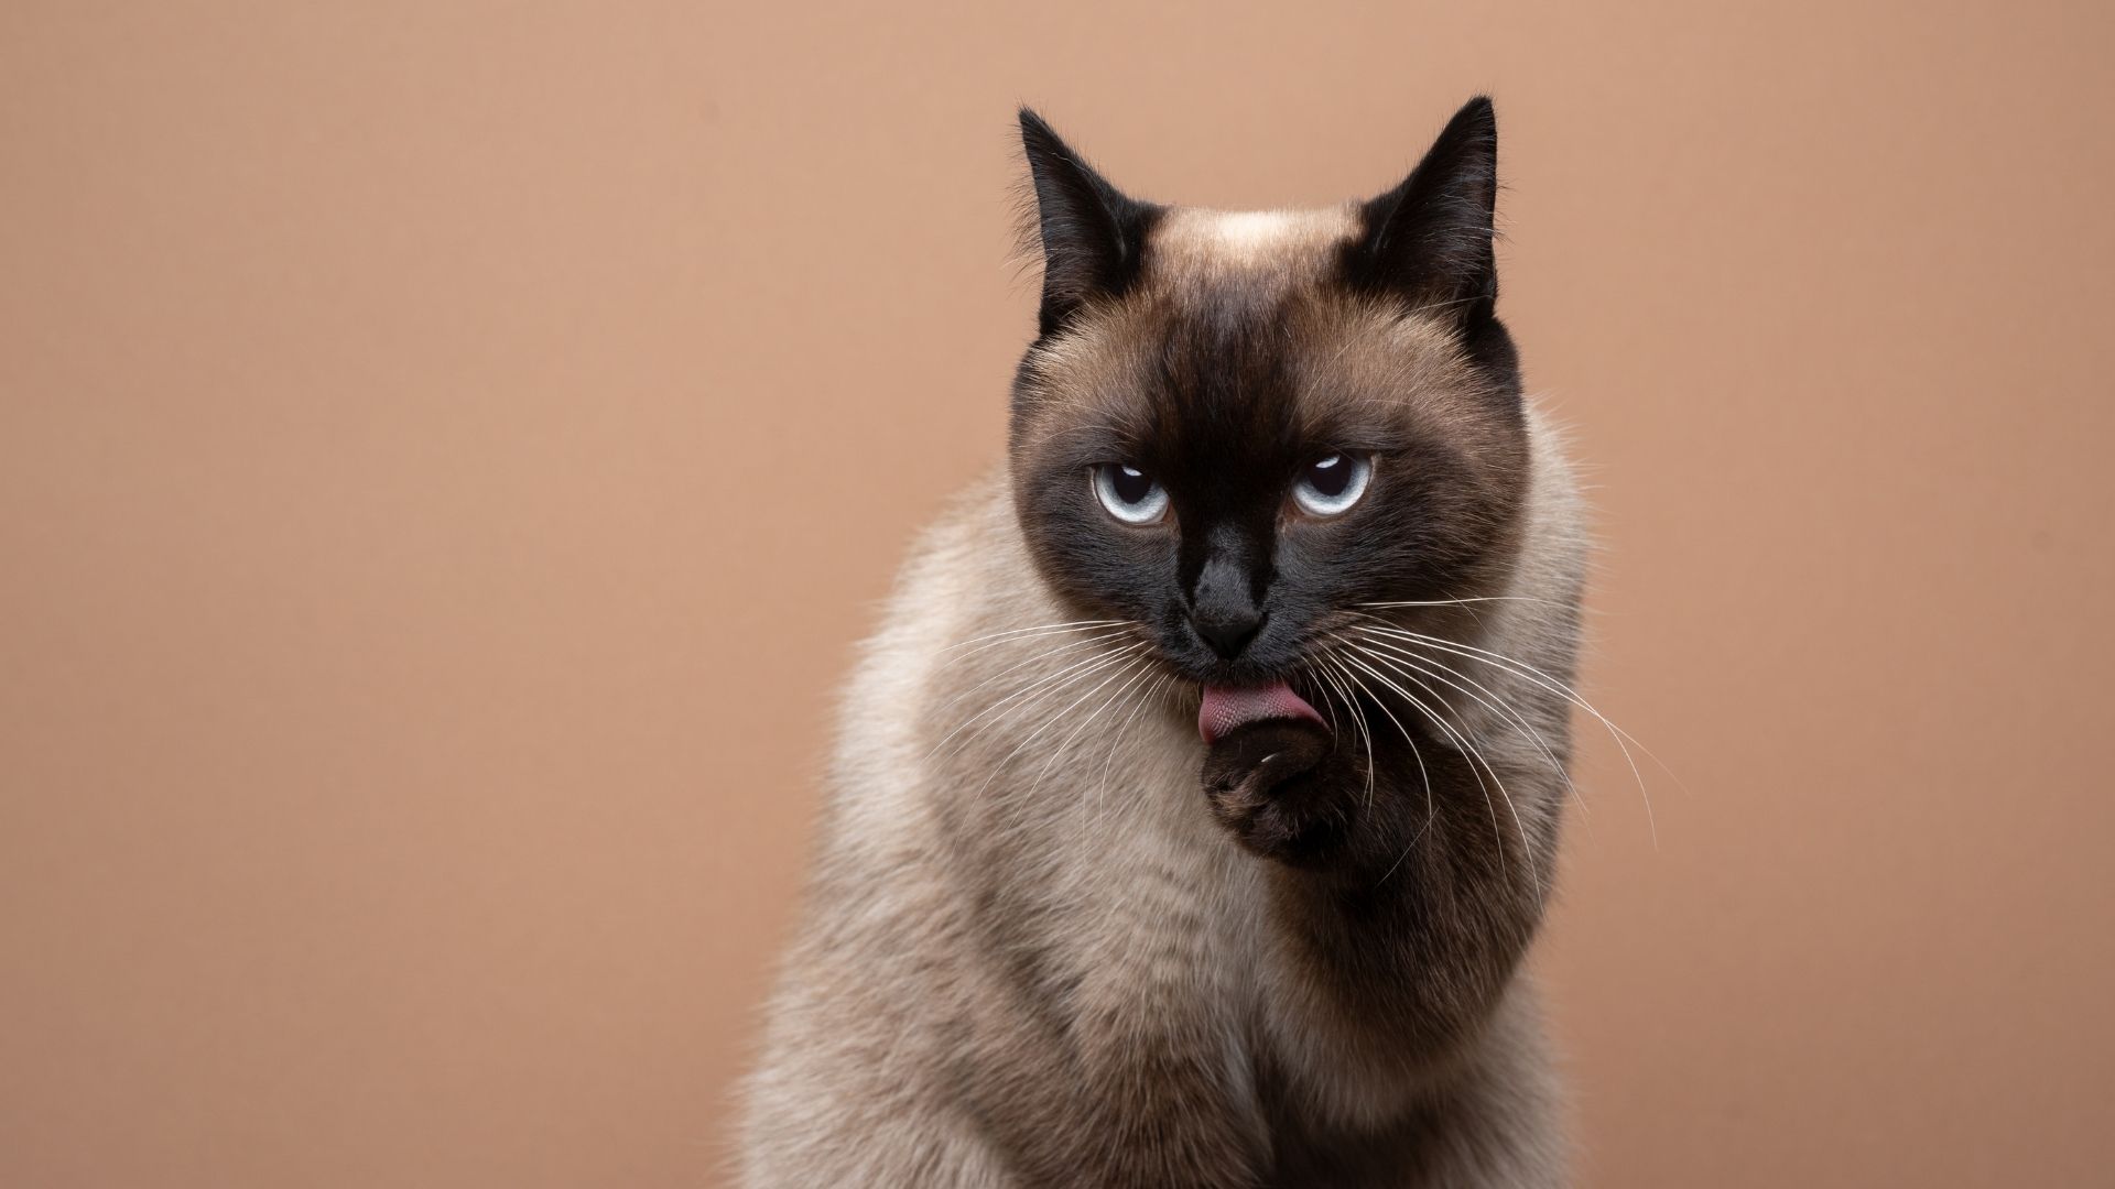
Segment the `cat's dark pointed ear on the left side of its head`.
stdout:
<path fill-rule="evenodd" d="M 1022 108 L 1022 150 L 1043 245 L 1038 322 L 1051 334 L 1087 300 L 1121 294 L 1138 277 L 1159 207 L 1110 186 L 1028 108 Z"/>

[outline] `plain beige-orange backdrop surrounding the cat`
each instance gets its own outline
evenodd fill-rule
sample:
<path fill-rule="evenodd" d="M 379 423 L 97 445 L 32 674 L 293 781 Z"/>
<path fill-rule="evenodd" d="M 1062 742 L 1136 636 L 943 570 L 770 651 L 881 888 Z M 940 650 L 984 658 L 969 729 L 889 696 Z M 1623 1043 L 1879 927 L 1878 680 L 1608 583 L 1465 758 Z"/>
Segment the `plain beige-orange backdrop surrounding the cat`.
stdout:
<path fill-rule="evenodd" d="M 2107 11 L 0 6 L 0 1181 L 711 1185 L 1030 330 L 1497 95 L 1605 537 L 1586 1185 L 2115 1172 Z M 770 8 L 766 13 L 764 8 Z"/>

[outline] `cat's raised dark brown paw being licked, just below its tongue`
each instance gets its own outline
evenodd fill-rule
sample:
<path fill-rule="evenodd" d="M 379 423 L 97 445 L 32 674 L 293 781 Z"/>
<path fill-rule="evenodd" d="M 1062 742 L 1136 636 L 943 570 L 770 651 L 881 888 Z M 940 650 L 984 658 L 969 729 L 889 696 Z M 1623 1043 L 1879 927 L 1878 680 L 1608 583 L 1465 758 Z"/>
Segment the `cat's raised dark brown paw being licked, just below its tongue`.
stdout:
<path fill-rule="evenodd" d="M 1201 772 L 1212 817 L 1265 859 L 1328 863 L 1358 815 L 1332 751 L 1330 734 L 1305 721 L 1258 721 L 1218 738 Z"/>

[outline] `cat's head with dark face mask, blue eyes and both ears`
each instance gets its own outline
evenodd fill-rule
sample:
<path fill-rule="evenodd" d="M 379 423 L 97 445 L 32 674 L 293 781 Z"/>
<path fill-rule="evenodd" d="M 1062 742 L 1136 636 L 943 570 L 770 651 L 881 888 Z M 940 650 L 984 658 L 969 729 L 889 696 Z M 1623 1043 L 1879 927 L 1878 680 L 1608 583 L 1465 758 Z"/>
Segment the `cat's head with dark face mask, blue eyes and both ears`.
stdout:
<path fill-rule="evenodd" d="M 1294 679 L 1373 603 L 1504 580 L 1529 463 L 1489 99 L 1320 212 L 1157 205 L 1026 108 L 1022 138 L 1045 269 L 1013 499 L 1062 597 L 1212 690 Z"/>

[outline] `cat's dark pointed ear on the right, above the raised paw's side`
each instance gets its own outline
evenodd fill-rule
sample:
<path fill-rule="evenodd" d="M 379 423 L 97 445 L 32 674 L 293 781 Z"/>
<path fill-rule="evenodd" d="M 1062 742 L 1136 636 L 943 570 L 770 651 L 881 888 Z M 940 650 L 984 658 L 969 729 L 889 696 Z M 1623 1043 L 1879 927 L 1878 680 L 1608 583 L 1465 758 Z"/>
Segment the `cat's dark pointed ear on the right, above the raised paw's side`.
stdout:
<path fill-rule="evenodd" d="M 1470 99 L 1400 186 L 1360 207 L 1347 279 L 1390 292 L 1474 336 L 1497 305 L 1491 220 L 1497 209 L 1497 118 Z"/>

